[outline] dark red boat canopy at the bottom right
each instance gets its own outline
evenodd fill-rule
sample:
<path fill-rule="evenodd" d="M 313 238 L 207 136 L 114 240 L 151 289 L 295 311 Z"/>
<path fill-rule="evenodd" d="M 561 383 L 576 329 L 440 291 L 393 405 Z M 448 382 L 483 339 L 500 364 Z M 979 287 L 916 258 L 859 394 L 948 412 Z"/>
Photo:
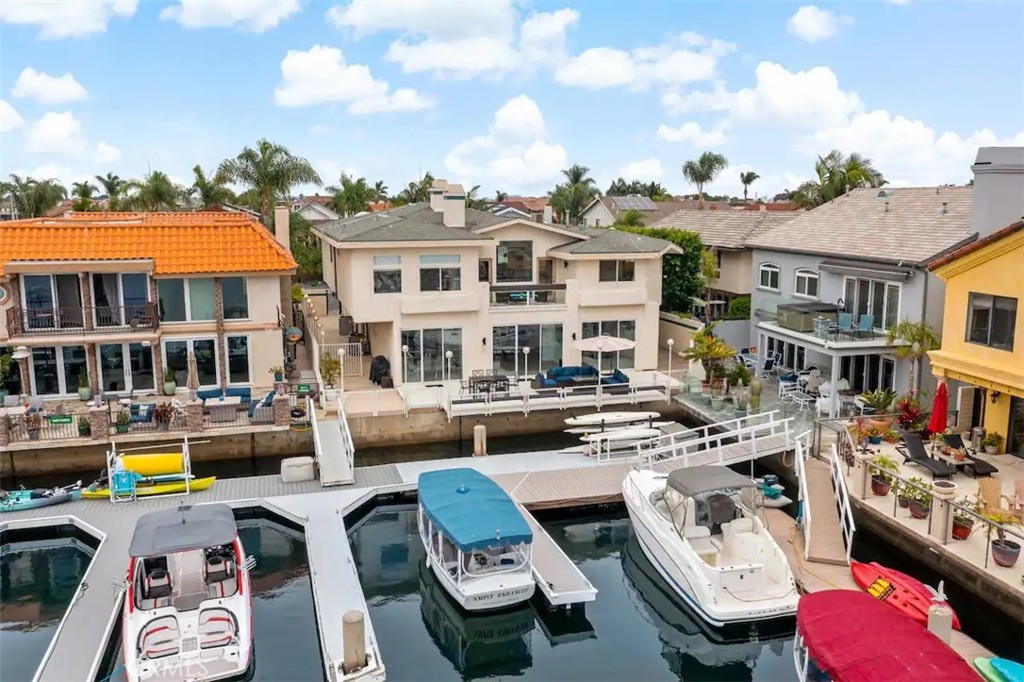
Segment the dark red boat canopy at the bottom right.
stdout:
<path fill-rule="evenodd" d="M 833 682 L 978 682 L 978 675 L 921 624 L 864 592 L 800 598 L 797 628 Z"/>

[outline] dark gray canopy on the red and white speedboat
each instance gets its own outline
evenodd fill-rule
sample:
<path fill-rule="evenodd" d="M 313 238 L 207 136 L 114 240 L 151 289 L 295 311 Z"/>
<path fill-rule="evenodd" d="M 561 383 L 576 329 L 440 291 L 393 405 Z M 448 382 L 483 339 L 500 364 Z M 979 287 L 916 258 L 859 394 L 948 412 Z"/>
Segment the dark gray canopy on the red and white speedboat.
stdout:
<path fill-rule="evenodd" d="M 227 505 L 182 506 L 138 519 L 128 553 L 163 556 L 234 542 L 234 514 Z"/>

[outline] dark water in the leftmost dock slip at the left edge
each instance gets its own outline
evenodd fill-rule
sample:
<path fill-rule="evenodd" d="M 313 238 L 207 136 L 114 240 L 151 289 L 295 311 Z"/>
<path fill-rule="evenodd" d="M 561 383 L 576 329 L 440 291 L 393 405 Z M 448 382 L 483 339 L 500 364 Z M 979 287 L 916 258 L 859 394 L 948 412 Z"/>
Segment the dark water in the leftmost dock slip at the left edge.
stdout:
<path fill-rule="evenodd" d="M 92 550 L 72 539 L 0 549 L 0 680 L 35 675 L 91 558 Z"/>

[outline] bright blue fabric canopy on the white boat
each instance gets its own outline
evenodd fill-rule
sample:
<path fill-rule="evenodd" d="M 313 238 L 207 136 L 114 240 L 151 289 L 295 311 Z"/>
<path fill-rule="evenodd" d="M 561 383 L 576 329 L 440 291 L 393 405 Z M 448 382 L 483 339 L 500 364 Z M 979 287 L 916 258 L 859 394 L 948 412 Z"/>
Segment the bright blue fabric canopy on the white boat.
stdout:
<path fill-rule="evenodd" d="M 515 503 L 475 469 L 428 471 L 419 487 L 424 513 L 463 552 L 534 541 Z"/>

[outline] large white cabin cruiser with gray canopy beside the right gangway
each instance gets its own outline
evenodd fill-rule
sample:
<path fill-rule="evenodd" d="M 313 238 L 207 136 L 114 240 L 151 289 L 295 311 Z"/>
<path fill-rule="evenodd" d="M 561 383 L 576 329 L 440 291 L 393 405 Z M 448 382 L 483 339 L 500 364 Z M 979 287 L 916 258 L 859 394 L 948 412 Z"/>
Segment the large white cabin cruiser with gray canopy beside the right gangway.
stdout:
<path fill-rule="evenodd" d="M 716 627 L 797 612 L 790 563 L 754 511 L 756 494 L 757 483 L 720 466 L 640 469 L 623 480 L 644 554 Z"/>

